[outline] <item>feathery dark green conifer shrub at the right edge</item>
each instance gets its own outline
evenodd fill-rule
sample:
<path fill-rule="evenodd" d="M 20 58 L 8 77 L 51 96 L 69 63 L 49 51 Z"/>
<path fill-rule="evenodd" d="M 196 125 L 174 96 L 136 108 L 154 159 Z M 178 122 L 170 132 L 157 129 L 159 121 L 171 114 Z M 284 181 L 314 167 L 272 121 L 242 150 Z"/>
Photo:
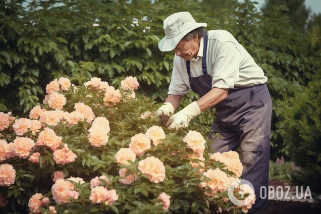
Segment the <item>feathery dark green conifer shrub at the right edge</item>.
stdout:
<path fill-rule="evenodd" d="M 299 167 L 292 175 L 294 184 L 309 186 L 321 193 L 321 78 L 315 76 L 308 87 L 285 98 L 280 114 L 284 117 L 282 131 L 292 160 Z"/>

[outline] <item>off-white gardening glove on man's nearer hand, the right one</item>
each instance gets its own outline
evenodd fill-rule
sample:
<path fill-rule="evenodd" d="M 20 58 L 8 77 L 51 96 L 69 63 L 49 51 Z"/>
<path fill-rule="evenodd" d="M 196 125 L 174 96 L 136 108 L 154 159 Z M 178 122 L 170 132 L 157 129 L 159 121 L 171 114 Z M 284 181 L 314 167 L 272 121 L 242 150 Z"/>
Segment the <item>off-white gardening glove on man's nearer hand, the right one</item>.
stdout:
<path fill-rule="evenodd" d="M 196 101 L 187 105 L 184 109 L 170 117 L 167 122 L 167 125 L 170 125 L 169 129 L 185 128 L 188 126 L 188 123 L 196 116 L 201 114 L 201 110 Z"/>

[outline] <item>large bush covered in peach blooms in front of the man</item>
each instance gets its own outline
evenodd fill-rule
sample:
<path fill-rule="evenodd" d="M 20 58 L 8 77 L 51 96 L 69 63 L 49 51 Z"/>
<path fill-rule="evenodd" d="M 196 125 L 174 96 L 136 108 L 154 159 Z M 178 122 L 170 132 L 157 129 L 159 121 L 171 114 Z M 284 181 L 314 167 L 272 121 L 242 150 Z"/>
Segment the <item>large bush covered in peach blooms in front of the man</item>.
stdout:
<path fill-rule="evenodd" d="M 243 167 L 236 152 L 212 153 L 208 131 L 178 132 L 156 117 L 158 104 L 99 78 L 46 87 L 30 119 L 0 113 L 0 206 L 32 213 L 210 213 L 247 211 L 229 185 Z M 210 112 L 200 117 L 208 117 Z M 236 197 L 244 188 L 236 188 Z M 243 194 L 244 195 L 244 194 Z M 211 208 L 210 208 L 211 207 Z"/>

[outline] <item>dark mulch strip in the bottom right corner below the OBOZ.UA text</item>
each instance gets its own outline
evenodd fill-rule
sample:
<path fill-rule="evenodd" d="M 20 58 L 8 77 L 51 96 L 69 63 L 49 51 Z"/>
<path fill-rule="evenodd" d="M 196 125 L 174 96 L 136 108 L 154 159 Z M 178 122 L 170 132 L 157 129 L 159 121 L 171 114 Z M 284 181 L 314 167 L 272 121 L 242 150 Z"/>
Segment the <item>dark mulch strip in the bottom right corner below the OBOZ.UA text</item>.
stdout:
<path fill-rule="evenodd" d="M 312 209 L 312 203 L 301 201 L 269 200 L 269 207 L 262 214 L 319 214 L 321 207 Z"/>

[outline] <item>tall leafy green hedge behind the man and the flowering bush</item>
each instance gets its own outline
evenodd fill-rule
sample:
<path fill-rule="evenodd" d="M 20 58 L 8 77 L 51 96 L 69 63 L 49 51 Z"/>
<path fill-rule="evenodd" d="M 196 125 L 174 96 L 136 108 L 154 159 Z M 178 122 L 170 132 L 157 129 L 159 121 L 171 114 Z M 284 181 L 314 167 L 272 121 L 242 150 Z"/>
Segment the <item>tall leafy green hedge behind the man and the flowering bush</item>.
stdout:
<path fill-rule="evenodd" d="M 163 20 L 179 11 L 190 11 L 208 30 L 230 31 L 244 45 L 269 77 L 274 110 L 283 93 L 292 96 L 319 66 L 319 30 L 307 36 L 291 26 L 282 8 L 262 15 L 250 1 L 216 1 L 215 8 L 212 1 L 192 0 L 35 0 L 24 3 L 27 8 L 22 3 L 0 3 L 0 111 L 21 116 L 41 102 L 45 83 L 61 76 L 74 83 L 92 76 L 117 83 L 131 75 L 141 83 L 139 92 L 163 101 L 174 53 L 159 51 L 157 43 Z M 185 96 L 182 107 L 197 97 Z M 273 158 L 289 155 L 279 118 L 273 114 Z"/>

